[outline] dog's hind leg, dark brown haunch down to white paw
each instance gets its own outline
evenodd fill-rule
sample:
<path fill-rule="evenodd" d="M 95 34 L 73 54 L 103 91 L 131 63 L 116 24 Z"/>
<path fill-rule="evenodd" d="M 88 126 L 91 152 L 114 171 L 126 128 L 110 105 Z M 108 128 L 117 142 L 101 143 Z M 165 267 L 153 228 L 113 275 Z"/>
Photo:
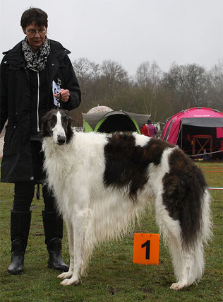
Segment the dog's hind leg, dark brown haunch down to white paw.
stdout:
<path fill-rule="evenodd" d="M 203 243 L 212 237 L 211 198 L 203 173 L 180 150 L 169 156 L 169 167 L 163 202 L 172 226 L 165 233 L 177 279 L 171 289 L 182 289 L 203 274 Z"/>

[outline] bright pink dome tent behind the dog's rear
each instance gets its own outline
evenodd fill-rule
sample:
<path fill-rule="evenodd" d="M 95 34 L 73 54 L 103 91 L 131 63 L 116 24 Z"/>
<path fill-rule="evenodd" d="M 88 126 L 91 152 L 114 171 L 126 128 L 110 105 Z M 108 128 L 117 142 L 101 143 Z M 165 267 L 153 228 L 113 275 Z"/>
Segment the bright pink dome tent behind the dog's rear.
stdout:
<path fill-rule="evenodd" d="M 179 144 L 187 134 L 211 134 L 213 139 L 223 137 L 223 113 L 212 108 L 196 107 L 183 110 L 167 120 L 162 140 Z"/>

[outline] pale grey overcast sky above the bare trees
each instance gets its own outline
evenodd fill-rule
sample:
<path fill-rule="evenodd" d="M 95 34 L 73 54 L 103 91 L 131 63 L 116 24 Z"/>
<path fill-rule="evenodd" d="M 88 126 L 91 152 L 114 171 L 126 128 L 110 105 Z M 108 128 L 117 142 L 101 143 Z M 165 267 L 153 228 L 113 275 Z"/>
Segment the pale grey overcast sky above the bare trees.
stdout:
<path fill-rule="evenodd" d="M 199 64 L 223 57 L 223 0 L 0 0 L 0 52 L 24 34 L 20 17 L 30 6 L 49 16 L 48 37 L 71 50 L 71 61 L 111 59 L 130 76 L 143 62 Z M 3 55 L 0 54 L 0 59 Z"/>

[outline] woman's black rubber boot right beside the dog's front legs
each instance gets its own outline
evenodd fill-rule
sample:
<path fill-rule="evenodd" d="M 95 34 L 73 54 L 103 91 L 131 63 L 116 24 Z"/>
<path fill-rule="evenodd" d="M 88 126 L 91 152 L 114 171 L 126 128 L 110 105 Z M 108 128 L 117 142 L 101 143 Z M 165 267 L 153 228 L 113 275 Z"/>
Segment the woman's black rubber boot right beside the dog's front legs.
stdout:
<path fill-rule="evenodd" d="M 56 211 L 42 211 L 42 219 L 44 224 L 45 243 L 49 252 L 47 265 L 49 268 L 68 272 L 68 265 L 62 259 L 62 243 L 63 238 L 63 219 Z"/>

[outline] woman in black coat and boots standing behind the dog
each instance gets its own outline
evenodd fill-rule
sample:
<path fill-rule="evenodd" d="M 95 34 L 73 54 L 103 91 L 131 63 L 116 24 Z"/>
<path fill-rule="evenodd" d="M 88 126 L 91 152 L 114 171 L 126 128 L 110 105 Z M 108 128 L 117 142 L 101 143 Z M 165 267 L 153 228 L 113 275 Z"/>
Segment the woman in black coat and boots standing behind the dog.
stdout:
<path fill-rule="evenodd" d="M 11 265 L 9 274 L 22 274 L 25 248 L 30 230 L 35 184 L 42 174 L 43 154 L 40 129 L 42 116 L 57 105 L 52 87 L 61 86 L 61 108 L 72 110 L 80 105 L 80 88 L 66 50 L 47 38 L 47 13 L 29 8 L 21 17 L 25 39 L 4 52 L 1 62 L 1 130 L 6 126 L 1 182 L 13 182 L 11 210 Z M 56 84 L 55 84 L 56 83 Z M 59 89 L 59 87 L 58 87 Z M 38 187 L 38 186 L 37 186 Z M 67 271 L 61 257 L 63 221 L 56 213 L 54 197 L 42 187 L 44 199 L 45 243 L 49 252 L 48 267 Z"/>

